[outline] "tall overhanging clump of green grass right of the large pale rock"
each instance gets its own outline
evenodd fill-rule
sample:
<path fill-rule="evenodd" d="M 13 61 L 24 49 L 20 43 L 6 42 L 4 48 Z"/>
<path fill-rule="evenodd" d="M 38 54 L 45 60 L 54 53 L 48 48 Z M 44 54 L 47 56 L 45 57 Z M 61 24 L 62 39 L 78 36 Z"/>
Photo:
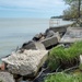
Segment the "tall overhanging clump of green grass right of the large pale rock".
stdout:
<path fill-rule="evenodd" d="M 49 52 L 48 67 L 56 70 L 59 66 L 63 68 L 73 67 L 79 63 L 79 56 L 82 55 L 82 42 L 75 42 L 69 48 L 57 46 Z"/>

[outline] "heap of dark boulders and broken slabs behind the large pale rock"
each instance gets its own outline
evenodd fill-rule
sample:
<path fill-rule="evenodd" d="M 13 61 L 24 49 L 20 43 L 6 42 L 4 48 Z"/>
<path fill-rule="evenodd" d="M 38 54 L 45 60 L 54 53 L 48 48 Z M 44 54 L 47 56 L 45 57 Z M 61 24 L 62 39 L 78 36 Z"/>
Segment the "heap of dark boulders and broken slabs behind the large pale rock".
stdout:
<path fill-rule="evenodd" d="M 22 49 L 47 49 L 52 48 L 60 40 L 60 34 L 52 30 L 46 30 L 44 34 L 39 33 L 32 40 L 24 43 Z M 40 47 L 39 47 L 40 46 Z"/>

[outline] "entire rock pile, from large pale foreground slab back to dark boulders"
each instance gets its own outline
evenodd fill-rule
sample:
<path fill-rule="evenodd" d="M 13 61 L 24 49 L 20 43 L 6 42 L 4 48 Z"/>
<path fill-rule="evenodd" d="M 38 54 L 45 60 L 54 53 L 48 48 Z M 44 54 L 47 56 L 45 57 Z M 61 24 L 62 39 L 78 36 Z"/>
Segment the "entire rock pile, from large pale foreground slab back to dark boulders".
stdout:
<path fill-rule="evenodd" d="M 47 49 L 51 49 L 60 42 L 60 37 L 65 34 L 65 27 L 48 28 L 45 33 L 35 35 L 32 40 L 24 43 L 19 50 L 2 58 L 2 61 L 8 69 L 7 71 L 14 77 L 21 75 L 22 78 L 35 78 L 48 58 Z M 10 80 L 8 82 L 13 81 Z"/>

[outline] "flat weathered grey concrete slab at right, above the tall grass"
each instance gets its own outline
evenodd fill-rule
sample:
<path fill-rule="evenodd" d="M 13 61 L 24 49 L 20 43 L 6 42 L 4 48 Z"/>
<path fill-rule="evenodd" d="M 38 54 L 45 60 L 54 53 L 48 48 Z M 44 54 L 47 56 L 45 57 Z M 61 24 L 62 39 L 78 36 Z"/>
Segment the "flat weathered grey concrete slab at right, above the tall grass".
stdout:
<path fill-rule="evenodd" d="M 82 40 L 82 27 L 68 27 L 66 34 L 60 39 L 61 44 Z"/>

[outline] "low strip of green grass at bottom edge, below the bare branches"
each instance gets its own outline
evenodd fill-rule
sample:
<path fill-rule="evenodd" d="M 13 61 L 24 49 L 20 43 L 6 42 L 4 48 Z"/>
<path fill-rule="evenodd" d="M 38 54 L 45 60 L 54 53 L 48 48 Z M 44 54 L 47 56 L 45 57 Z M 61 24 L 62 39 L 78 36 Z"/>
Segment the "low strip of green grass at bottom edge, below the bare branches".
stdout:
<path fill-rule="evenodd" d="M 44 82 L 82 82 L 82 74 L 73 75 L 61 72 L 46 77 Z"/>

